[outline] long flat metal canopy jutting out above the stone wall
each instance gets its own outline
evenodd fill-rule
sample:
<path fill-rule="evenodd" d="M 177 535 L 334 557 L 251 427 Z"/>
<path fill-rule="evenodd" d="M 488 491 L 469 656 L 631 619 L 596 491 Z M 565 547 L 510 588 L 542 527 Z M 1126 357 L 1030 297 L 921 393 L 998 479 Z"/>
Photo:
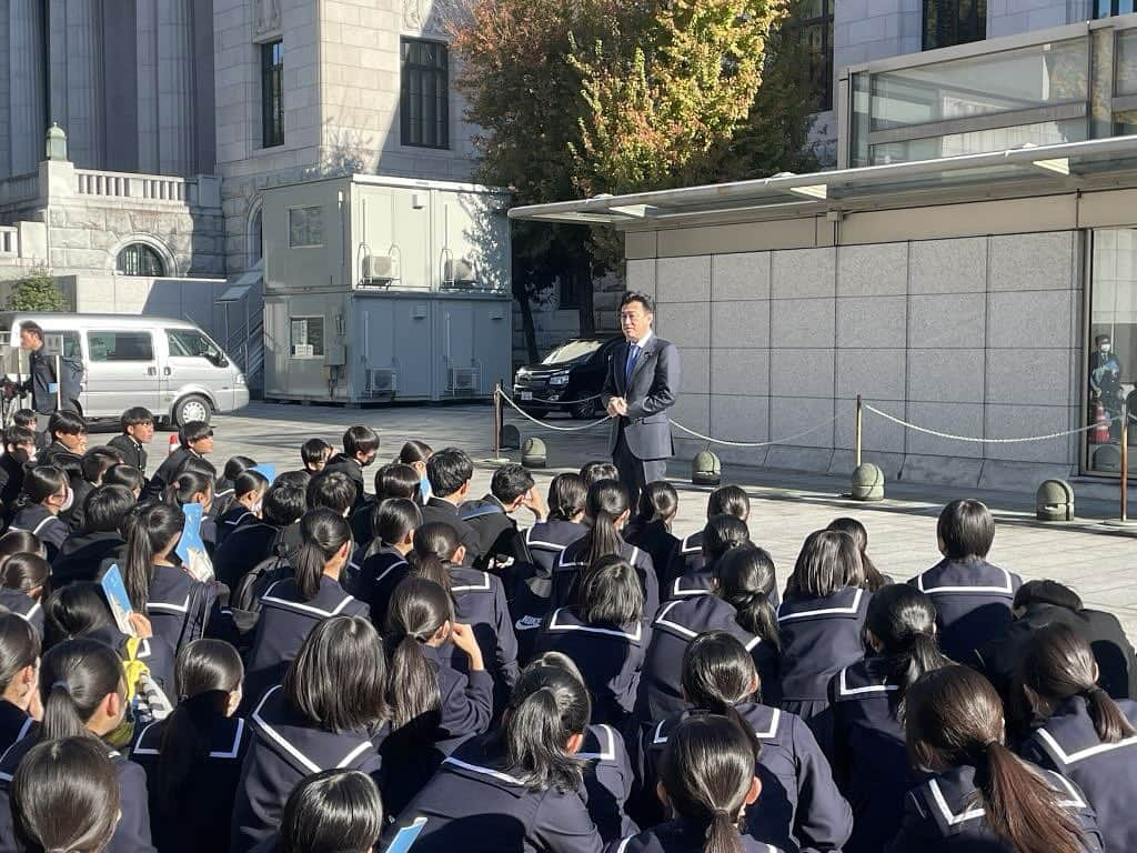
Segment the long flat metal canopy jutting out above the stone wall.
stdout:
<path fill-rule="evenodd" d="M 1128 180 L 1122 182 L 1122 176 Z M 778 217 L 887 207 L 890 201 L 901 205 L 901 197 L 904 205 L 911 206 L 919 204 L 921 196 L 947 191 L 977 198 L 1028 189 L 1043 194 L 1082 189 L 1102 183 L 1103 179 L 1111 179 L 1112 184 L 1137 185 L 1137 136 L 1023 146 L 988 154 L 807 175 L 783 174 L 628 196 L 597 196 L 514 207 L 509 218 L 634 227 L 712 213 L 758 212 Z"/>

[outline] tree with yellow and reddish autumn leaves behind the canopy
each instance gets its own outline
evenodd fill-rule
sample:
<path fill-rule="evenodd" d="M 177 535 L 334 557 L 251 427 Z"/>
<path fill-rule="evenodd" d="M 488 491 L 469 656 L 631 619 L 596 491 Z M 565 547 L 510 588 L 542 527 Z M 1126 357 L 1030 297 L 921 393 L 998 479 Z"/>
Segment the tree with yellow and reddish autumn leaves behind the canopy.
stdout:
<path fill-rule="evenodd" d="M 479 180 L 516 204 L 758 177 L 810 166 L 796 0 L 470 0 L 453 23 Z M 516 223 L 514 295 L 564 275 L 591 292 L 620 235 Z M 590 331 L 591 306 L 582 306 Z"/>

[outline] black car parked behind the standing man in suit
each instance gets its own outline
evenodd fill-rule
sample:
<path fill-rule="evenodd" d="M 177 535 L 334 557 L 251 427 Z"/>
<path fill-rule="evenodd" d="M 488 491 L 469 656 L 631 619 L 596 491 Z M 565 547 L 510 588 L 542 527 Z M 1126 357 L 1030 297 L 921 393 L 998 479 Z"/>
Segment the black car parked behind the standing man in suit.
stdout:
<path fill-rule="evenodd" d="M 513 398 L 533 417 L 567 412 L 573 417 L 599 417 L 600 389 L 612 349 L 620 336 L 574 338 L 562 343 L 539 364 L 518 368 Z"/>

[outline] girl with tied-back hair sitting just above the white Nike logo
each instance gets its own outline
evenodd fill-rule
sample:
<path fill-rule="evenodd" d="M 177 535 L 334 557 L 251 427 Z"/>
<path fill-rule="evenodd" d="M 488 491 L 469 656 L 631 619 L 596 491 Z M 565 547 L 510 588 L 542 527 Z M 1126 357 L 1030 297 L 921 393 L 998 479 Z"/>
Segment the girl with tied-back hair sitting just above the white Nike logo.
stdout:
<path fill-rule="evenodd" d="M 588 532 L 582 523 L 587 494 L 579 474 L 557 474 L 549 483 L 548 517 L 524 533 L 529 560 L 517 568 L 514 587 L 507 590 L 522 661 L 531 656 L 537 629 L 551 607 L 553 570 L 561 552 Z"/>

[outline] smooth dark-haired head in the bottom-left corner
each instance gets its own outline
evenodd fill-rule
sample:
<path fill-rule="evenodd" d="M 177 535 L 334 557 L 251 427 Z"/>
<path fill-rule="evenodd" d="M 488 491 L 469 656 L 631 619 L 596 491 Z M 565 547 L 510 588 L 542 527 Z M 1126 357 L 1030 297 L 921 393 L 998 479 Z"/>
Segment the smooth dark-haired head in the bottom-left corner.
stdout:
<path fill-rule="evenodd" d="M 38 744 L 11 779 L 16 840 L 28 853 L 102 853 L 119 802 L 118 770 L 91 738 Z"/>

